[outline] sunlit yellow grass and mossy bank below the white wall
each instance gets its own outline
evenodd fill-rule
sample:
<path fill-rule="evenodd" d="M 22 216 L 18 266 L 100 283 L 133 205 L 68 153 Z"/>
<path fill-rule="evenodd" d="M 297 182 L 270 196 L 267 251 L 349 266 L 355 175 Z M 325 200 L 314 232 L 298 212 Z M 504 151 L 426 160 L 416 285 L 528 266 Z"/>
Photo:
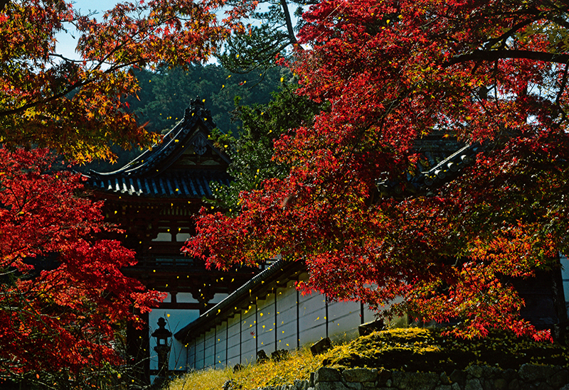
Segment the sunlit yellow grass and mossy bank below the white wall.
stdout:
<path fill-rule="evenodd" d="M 294 379 L 309 379 L 310 372 L 322 366 L 450 374 L 454 369 L 464 369 L 470 364 L 517 369 L 525 363 L 568 366 L 569 349 L 549 342 L 516 338 L 504 332 L 491 333 L 484 339 L 462 340 L 443 336 L 441 330 L 398 328 L 335 345 L 316 357 L 304 348 L 291 352 L 288 359 L 281 362 L 269 360 L 249 364 L 238 372 L 231 368 L 191 372 L 171 381 L 166 389 L 221 390 L 228 380 L 235 383 L 234 388 L 242 390 L 292 384 Z"/>

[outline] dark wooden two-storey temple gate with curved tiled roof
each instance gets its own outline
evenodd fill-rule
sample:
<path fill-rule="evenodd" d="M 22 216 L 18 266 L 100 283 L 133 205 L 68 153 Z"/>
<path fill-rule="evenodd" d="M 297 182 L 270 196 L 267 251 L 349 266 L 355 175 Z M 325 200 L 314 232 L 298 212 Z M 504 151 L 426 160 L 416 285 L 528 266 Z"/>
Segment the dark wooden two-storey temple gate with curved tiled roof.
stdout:
<path fill-rule="evenodd" d="M 118 170 L 86 175 L 95 199 L 105 200 L 107 221 L 124 229 L 114 238 L 136 251 L 138 264 L 124 273 L 149 289 L 168 293 L 164 303 L 146 315 L 149 329 L 128 332 L 129 353 L 141 362 L 144 377 L 158 368 L 154 340 L 149 340 L 158 318 L 166 318 L 167 327 L 176 332 L 260 271 L 206 270 L 203 262 L 181 254 L 194 232 L 192 215 L 204 205 L 203 198 L 212 197 L 210 183 L 230 180 L 228 156 L 208 138 L 214 127 L 203 102 L 193 100 L 160 145 Z M 185 348 L 179 342 L 172 345 L 170 367 L 186 368 Z"/>

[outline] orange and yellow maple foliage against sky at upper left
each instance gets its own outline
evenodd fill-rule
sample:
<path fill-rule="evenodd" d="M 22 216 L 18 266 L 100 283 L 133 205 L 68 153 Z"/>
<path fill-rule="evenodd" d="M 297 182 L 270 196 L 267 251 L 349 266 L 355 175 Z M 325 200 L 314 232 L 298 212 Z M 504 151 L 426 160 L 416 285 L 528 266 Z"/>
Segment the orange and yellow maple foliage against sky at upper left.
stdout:
<path fill-rule="evenodd" d="M 248 7 L 224 0 L 117 4 L 102 16 L 65 1 L 0 1 L 0 142 L 53 148 L 77 161 L 112 159 L 110 146 L 149 146 L 156 134 L 128 112 L 135 67 L 206 60 Z M 238 3 L 239 4 L 239 3 Z M 240 5 L 240 4 L 239 4 Z M 76 58 L 58 33 L 78 38 Z"/>

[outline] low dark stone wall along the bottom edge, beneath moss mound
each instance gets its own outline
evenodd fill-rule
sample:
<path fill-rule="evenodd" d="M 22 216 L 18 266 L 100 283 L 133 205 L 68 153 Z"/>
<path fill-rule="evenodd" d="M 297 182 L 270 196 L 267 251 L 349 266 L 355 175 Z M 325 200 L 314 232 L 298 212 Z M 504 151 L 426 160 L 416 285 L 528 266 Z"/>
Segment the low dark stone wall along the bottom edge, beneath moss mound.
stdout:
<path fill-rule="evenodd" d="M 310 380 L 257 390 L 569 390 L 565 367 L 523 364 L 518 371 L 472 366 L 447 374 L 321 367 Z"/>

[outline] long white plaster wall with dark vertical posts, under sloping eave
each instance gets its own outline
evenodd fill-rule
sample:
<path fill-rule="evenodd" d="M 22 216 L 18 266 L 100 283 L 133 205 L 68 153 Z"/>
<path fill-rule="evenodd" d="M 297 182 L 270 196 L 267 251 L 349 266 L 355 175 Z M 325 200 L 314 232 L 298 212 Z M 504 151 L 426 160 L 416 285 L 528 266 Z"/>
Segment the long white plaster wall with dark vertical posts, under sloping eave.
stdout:
<path fill-rule="evenodd" d="M 257 297 L 256 302 L 258 308 L 255 303 L 250 303 L 243 310 L 234 313 L 233 317 L 225 318 L 223 323 L 217 325 L 216 330 L 211 329 L 205 336 L 198 338 L 195 366 L 192 357 L 193 345 L 189 346 L 188 367 L 201 369 L 214 364 L 216 367 L 223 367 L 225 364 L 247 364 L 257 359 L 257 350 L 265 350 L 267 356 L 270 356 L 275 350 L 292 350 L 297 345 L 312 344 L 326 337 L 326 320 L 331 340 L 351 340 L 358 335 L 358 325 L 374 320 L 374 313 L 368 308 L 364 308 L 362 318 L 361 304 L 358 302 L 328 303 L 329 318 L 326 318 L 326 298 L 319 293 L 303 296 L 297 293 L 294 282 Z M 203 340 L 206 340 L 205 364 Z"/>

